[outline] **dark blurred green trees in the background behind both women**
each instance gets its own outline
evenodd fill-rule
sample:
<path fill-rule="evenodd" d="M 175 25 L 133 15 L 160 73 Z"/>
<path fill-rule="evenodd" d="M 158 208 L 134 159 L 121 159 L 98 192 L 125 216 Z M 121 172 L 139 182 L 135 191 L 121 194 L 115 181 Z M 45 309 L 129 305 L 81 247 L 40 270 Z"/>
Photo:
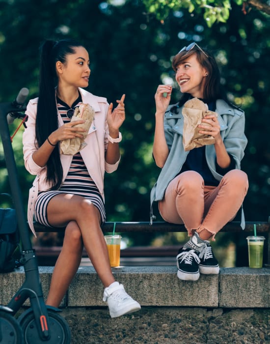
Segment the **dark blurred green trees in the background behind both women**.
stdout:
<path fill-rule="evenodd" d="M 14 100 L 22 87 L 29 89 L 28 99 L 38 95 L 39 46 L 44 38 L 79 39 L 90 56 L 88 90 L 107 97 L 114 105 L 116 99 L 126 94 L 121 163 L 117 172 L 105 177 L 107 220 L 148 221 L 150 190 L 160 172 L 152 158 L 154 93 L 159 84 L 172 83 L 172 102 L 177 101 L 180 93 L 174 82 L 171 58 L 195 41 L 212 49 L 229 98 L 245 111 L 248 145 L 242 169 L 249 176 L 243 204 L 245 217 L 247 221 L 267 221 L 270 17 L 255 9 L 244 15 L 241 6 L 235 2 L 231 5 L 227 22 L 209 28 L 202 15 L 190 14 L 188 9 L 171 11 L 161 22 L 154 14 L 146 14 L 144 4 L 137 0 L 0 0 L 0 102 Z M 11 133 L 19 123 L 13 123 Z M 23 127 L 15 136 L 13 149 L 27 206 L 33 176 L 24 168 L 22 133 Z M 9 191 L 2 146 L 0 191 Z M 157 210 L 155 213 L 158 215 Z M 126 237 L 128 245 L 171 245 L 185 240 L 182 233 L 162 237 L 136 233 Z M 221 266 L 234 264 L 231 261 L 235 261 L 236 255 L 232 249 L 236 242 L 244 250 L 243 236 L 216 236 L 214 245 L 223 261 Z M 224 250 L 230 252 L 229 263 Z"/>

